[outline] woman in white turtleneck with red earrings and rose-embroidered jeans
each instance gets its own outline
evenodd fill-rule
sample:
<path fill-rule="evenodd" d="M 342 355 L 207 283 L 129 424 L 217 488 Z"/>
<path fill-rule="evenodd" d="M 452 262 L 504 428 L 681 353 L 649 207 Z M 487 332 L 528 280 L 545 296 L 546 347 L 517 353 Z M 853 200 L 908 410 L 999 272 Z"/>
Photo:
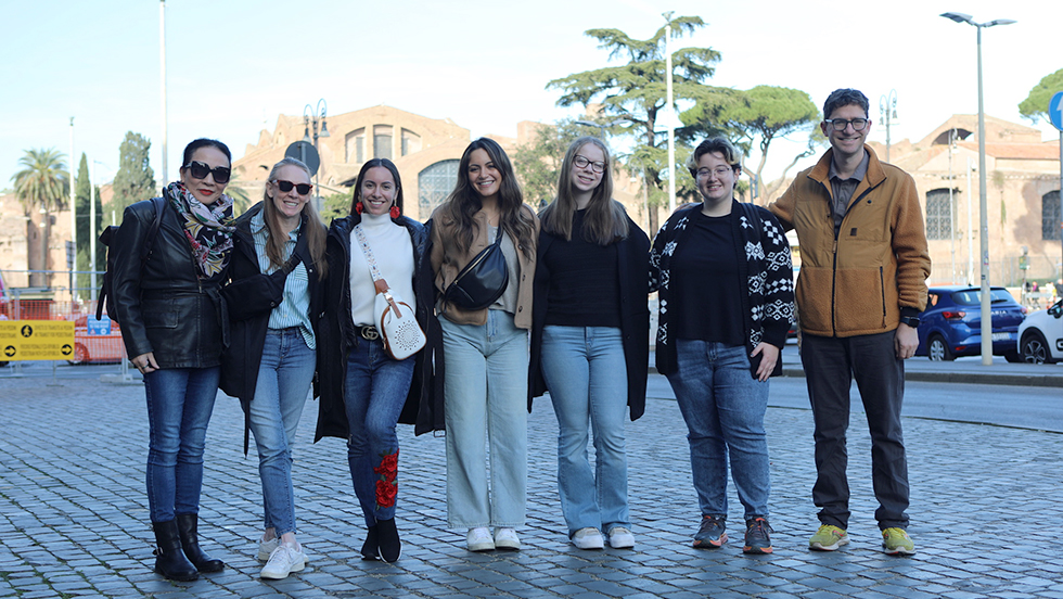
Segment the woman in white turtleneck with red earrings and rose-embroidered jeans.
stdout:
<path fill-rule="evenodd" d="M 408 403 L 417 413 L 421 385 L 411 382 L 425 352 L 405 360 L 387 354 L 373 318 L 374 279 L 387 281 L 395 298 L 414 309 L 422 330 L 432 308 L 431 298 L 413 291 L 427 232 L 401 208 L 402 181 L 395 164 L 387 158 L 363 164 L 350 215 L 329 229 L 325 256 L 332 275 L 318 345 L 321 407 L 315 441 L 347 439 L 350 479 L 368 527 L 362 559 L 387 562 L 397 560 L 402 548 L 395 525 L 395 426 Z"/>

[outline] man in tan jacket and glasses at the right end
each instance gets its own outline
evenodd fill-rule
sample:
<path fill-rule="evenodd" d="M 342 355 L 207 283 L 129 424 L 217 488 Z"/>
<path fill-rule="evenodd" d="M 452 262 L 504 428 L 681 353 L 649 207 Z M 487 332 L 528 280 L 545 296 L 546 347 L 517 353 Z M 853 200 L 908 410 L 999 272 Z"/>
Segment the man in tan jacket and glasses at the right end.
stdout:
<path fill-rule="evenodd" d="M 865 144 L 868 107 L 855 89 L 831 93 L 820 124 L 831 149 L 768 208 L 797 231 L 801 246 L 801 357 L 816 424 L 812 500 L 820 508 L 809 547 L 832 551 L 849 541 L 845 432 L 856 379 L 871 431 L 882 548 L 908 555 L 915 547 L 905 511 L 904 360 L 919 345 L 931 263 L 914 181 Z"/>

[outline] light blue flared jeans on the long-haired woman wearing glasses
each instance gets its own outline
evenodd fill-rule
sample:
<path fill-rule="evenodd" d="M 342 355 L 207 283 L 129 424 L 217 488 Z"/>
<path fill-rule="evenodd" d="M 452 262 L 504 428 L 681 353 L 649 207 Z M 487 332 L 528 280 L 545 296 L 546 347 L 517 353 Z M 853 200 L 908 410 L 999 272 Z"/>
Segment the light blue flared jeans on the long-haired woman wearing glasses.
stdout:
<path fill-rule="evenodd" d="M 554 327 L 542 331 L 542 375 L 558 415 L 558 486 L 568 535 L 631 527 L 627 505 L 627 367 L 620 330 Z M 594 434 L 594 471 L 587 426 Z"/>

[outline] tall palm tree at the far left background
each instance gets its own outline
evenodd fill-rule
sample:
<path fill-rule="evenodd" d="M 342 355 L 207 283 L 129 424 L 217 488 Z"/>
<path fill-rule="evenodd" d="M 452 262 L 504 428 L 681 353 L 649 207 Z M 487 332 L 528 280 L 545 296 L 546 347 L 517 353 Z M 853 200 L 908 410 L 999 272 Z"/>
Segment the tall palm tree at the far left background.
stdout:
<path fill-rule="evenodd" d="M 68 194 L 69 178 L 66 174 L 66 163 L 63 154 L 54 148 L 43 150 L 26 150 L 18 160 L 22 170 L 15 173 L 11 180 L 15 184 L 15 195 L 22 202 L 26 214 L 26 262 L 31 272 L 30 286 L 49 286 L 44 270 L 48 270 L 48 237 L 51 233 L 53 211 L 65 206 L 64 199 Z M 34 222 L 34 216 L 40 214 L 40 222 Z M 43 231 L 40 231 L 40 229 Z M 40 235 L 39 255 L 33 251 L 30 240 Z"/>

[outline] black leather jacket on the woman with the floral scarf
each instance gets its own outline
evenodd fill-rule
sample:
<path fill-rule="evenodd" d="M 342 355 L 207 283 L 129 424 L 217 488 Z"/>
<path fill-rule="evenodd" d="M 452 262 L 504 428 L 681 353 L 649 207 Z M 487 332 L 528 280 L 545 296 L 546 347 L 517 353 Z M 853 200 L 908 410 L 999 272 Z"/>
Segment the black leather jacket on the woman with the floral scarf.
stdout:
<path fill-rule="evenodd" d="M 219 294 L 225 273 L 198 278 L 184 227 L 167 202 L 141 276 L 140 253 L 154 218 L 151 201 L 127 206 L 112 243 L 115 316 L 126 353 L 151 352 L 159 368 L 218 366 L 228 331 Z"/>

